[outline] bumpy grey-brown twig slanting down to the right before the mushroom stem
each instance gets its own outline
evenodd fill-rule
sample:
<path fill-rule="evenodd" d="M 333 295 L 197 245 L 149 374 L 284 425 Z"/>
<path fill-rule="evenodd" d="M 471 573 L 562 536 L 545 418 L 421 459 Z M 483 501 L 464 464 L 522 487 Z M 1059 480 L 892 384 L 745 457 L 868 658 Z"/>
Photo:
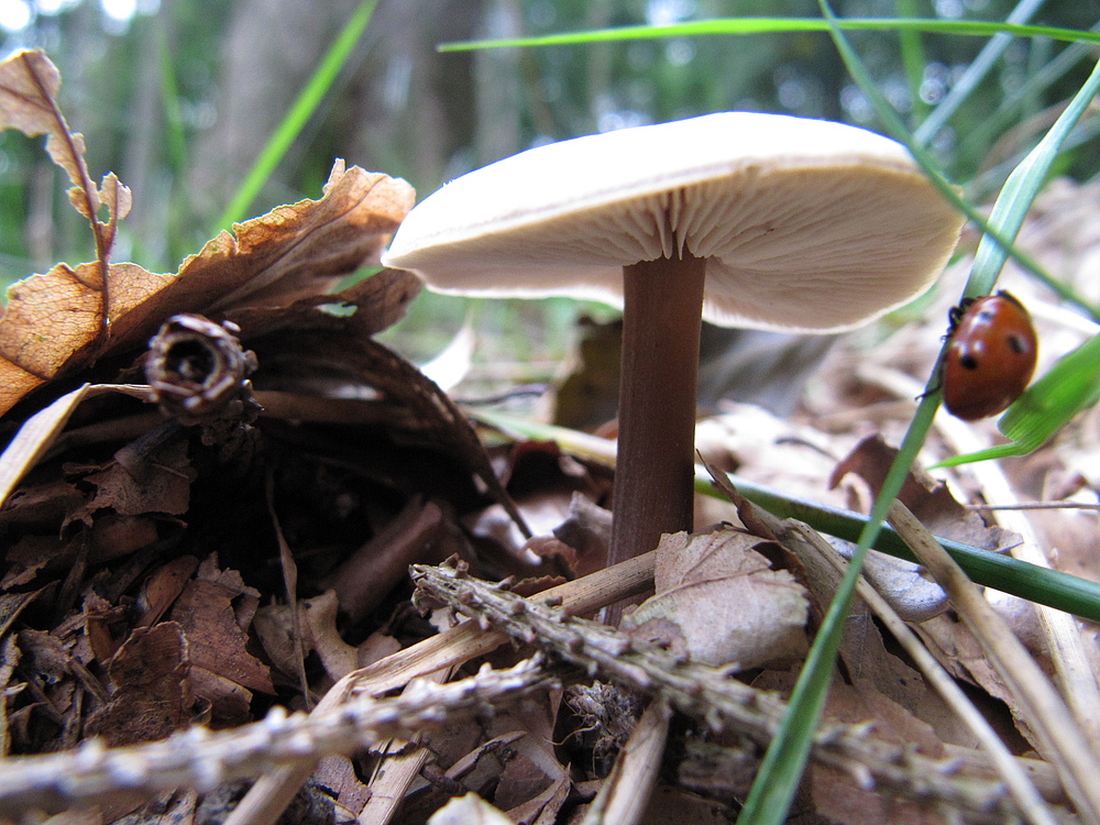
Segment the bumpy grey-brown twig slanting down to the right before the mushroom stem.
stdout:
<path fill-rule="evenodd" d="M 774 693 L 729 679 L 722 670 L 684 661 L 619 630 L 570 618 L 524 600 L 499 585 L 471 578 L 461 565 L 415 566 L 418 597 L 475 616 L 525 644 L 535 644 L 588 673 L 658 696 L 714 729 L 734 729 L 767 746 L 787 712 Z M 911 748 L 877 739 L 870 725 L 824 724 L 814 736 L 812 758 L 845 771 L 861 785 L 923 804 L 946 805 L 982 816 L 1019 818 L 1004 785 L 961 776 L 954 761 L 938 761 Z"/>

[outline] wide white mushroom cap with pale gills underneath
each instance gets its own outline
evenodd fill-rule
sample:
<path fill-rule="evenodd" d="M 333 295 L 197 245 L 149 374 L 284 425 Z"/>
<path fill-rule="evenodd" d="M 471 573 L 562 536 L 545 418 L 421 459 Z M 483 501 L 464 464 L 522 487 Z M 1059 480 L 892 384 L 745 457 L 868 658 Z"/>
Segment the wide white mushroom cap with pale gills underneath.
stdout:
<path fill-rule="evenodd" d="M 703 316 L 805 331 L 923 292 L 963 217 L 901 144 L 856 127 L 719 112 L 539 146 L 446 185 L 383 263 L 442 293 L 622 306 L 624 265 L 706 257 Z"/>

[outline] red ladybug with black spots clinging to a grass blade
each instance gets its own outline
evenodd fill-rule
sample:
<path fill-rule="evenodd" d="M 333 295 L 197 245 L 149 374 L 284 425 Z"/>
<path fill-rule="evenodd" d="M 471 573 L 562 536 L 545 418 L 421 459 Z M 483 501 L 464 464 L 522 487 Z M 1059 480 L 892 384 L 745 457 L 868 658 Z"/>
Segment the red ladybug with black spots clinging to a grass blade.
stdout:
<path fill-rule="evenodd" d="M 944 406 L 964 421 L 993 416 L 1019 398 L 1038 354 L 1031 316 L 1005 292 L 952 309 L 944 356 Z"/>

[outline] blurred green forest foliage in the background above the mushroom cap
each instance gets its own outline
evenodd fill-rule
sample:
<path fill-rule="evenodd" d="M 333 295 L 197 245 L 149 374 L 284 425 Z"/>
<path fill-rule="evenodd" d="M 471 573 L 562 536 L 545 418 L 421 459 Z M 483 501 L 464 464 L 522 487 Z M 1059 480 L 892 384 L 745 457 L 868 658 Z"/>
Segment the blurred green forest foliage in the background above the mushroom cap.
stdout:
<path fill-rule="evenodd" d="M 61 3 L 52 13 L 38 2 L 30 24 L 7 34 L 6 51 L 46 48 L 62 72 L 69 123 L 87 138 L 92 173 L 113 169 L 134 190 L 135 208 L 120 234 L 117 260 L 174 271 L 208 240 L 234 187 L 305 84 L 310 62 L 320 61 L 355 8 L 352 0 L 308 9 L 271 0 L 268 10 L 282 14 L 274 19 L 286 31 L 265 37 L 260 29 L 260 36 L 253 32 L 251 38 L 232 40 L 234 32 L 248 34 L 250 15 L 256 18 L 261 6 L 255 0 L 146 2 L 120 21 L 90 0 Z M 411 12 L 408 0 L 378 3 L 361 48 L 254 201 L 255 213 L 317 197 L 337 156 L 406 176 L 424 195 L 449 177 L 535 143 L 722 109 L 880 125 L 826 34 L 676 37 L 461 56 L 433 51 L 435 43 L 446 40 L 723 15 L 817 16 L 812 0 L 421 0 L 414 6 Z M 1097 23 L 1089 3 L 1050 0 L 1034 6 L 1030 22 L 1078 29 Z M 1014 8 L 1007 0 L 838 4 L 848 16 L 981 20 L 1004 20 Z M 324 15 L 330 20 L 319 24 L 319 38 L 296 40 L 295 26 L 304 19 Z M 243 52 L 241 42 L 248 44 Z M 276 43 L 285 53 L 287 42 L 300 43 L 301 54 L 290 50 L 299 73 L 286 70 L 277 78 L 276 90 L 285 87 L 286 95 L 268 86 L 250 99 L 242 66 L 282 73 L 279 64 L 265 67 Z M 853 33 L 851 42 L 913 129 L 987 43 L 872 32 Z M 415 43 L 422 48 L 409 45 Z M 996 193 L 1013 162 L 1080 87 L 1090 68 L 1087 50 L 1065 43 L 1012 41 L 945 128 L 927 135 L 954 179 L 972 183 L 972 198 Z M 426 111 L 427 120 L 414 119 Z M 1088 143 L 1094 121 L 1070 142 L 1058 173 L 1080 179 L 1096 174 L 1100 161 Z M 254 132 L 222 135 L 221 143 L 210 140 L 219 130 L 250 127 Z M 219 147 L 233 140 L 246 148 L 218 156 Z M 0 280 L 91 256 L 87 226 L 68 208 L 64 180 L 37 141 L 0 134 Z M 453 330 L 455 319 L 468 312 L 465 302 L 425 304 L 414 310 L 428 316 L 421 329 Z M 444 317 L 440 324 L 431 321 L 437 311 Z"/>

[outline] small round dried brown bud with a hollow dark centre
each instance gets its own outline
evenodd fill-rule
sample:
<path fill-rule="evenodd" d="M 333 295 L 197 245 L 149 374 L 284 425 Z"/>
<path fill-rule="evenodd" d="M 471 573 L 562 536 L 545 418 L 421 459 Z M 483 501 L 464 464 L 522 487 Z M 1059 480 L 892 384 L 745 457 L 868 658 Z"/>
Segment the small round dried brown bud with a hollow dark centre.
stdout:
<path fill-rule="evenodd" d="M 255 418 L 248 378 L 256 356 L 241 346 L 240 331 L 235 323 L 218 324 L 197 315 L 165 321 L 145 360 L 145 378 L 165 415 L 185 425 Z"/>

